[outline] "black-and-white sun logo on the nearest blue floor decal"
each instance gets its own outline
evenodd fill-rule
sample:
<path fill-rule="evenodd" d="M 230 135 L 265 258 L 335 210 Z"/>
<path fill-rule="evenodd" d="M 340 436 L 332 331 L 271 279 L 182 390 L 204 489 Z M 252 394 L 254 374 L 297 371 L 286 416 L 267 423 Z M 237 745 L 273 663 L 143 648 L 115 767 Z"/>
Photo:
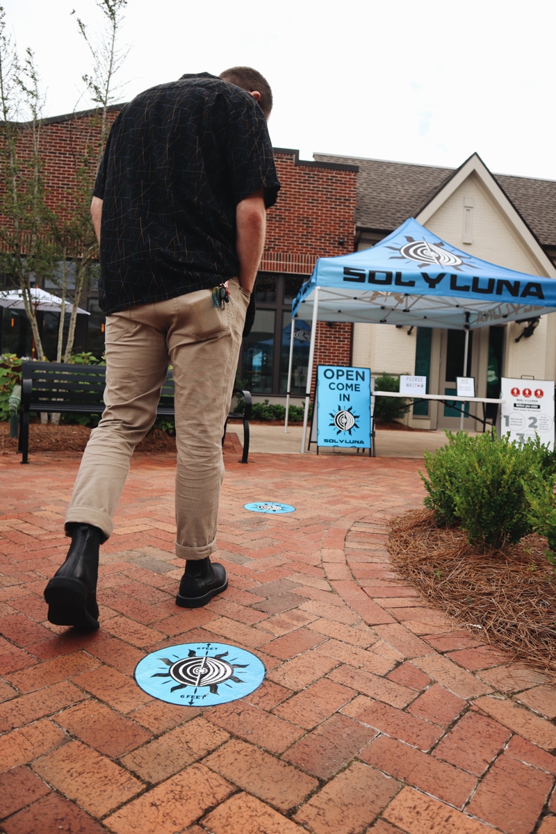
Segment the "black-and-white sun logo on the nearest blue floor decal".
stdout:
<path fill-rule="evenodd" d="M 168 666 L 165 672 L 155 672 L 151 677 L 168 678 L 165 683 L 175 683 L 175 686 L 170 687 L 170 692 L 190 689 L 189 693 L 184 693 L 181 697 L 184 698 L 189 706 L 193 706 L 195 701 L 203 700 L 203 688 L 208 690 L 212 695 L 218 695 L 218 686 L 232 686 L 232 683 L 244 683 L 241 678 L 235 674 L 238 669 L 246 669 L 246 663 L 234 663 L 233 660 L 224 661 L 223 658 L 228 656 L 228 651 L 223 651 L 220 654 L 210 654 L 210 644 L 208 643 L 204 654 L 198 655 L 196 651 L 190 649 L 187 657 L 180 657 L 174 655 L 171 657 L 160 657 L 159 661 Z"/>

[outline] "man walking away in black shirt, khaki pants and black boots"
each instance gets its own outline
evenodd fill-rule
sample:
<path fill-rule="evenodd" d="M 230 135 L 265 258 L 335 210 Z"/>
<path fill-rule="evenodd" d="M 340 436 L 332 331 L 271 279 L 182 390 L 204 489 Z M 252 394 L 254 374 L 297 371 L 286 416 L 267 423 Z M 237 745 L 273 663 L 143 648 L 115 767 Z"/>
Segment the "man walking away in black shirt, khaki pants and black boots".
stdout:
<path fill-rule="evenodd" d="M 148 89 L 108 137 L 91 214 L 106 320 L 105 410 L 65 519 L 72 544 L 44 591 L 48 620 L 98 628 L 99 545 L 139 440 L 156 417 L 168 364 L 176 413 L 176 602 L 206 605 L 228 586 L 211 563 L 222 435 L 278 178 L 266 118 L 272 92 L 236 67 Z M 251 309 L 250 309 L 251 312 Z"/>

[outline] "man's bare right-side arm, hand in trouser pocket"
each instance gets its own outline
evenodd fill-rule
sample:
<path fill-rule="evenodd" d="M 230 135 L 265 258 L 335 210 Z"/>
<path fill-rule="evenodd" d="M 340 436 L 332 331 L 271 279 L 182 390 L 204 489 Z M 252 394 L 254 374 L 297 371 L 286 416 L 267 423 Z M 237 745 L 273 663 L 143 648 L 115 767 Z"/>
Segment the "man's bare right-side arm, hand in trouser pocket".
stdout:
<path fill-rule="evenodd" d="M 263 188 L 249 194 L 236 207 L 236 251 L 239 259 L 239 283 L 248 293 L 253 291 L 258 264 L 264 249 L 267 211 Z"/>

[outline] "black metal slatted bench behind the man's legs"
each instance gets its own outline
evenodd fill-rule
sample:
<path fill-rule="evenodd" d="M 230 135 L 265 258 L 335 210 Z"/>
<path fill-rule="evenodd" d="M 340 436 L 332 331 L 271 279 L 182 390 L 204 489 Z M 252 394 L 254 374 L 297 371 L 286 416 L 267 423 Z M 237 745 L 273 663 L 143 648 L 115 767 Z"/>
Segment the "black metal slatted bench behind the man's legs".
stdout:
<path fill-rule="evenodd" d="M 19 446 L 22 463 L 28 463 L 29 414 L 52 412 L 54 414 L 102 414 L 104 410 L 105 365 L 64 364 L 58 362 L 22 362 L 22 402 L 19 417 Z M 236 397 L 245 400 L 244 413 L 231 411 L 223 426 L 222 442 L 226 436 L 228 420 L 243 421 L 243 455 L 241 462 L 248 462 L 249 417 L 252 399 L 249 391 L 233 389 Z M 158 402 L 157 416 L 173 417 L 173 371 L 168 370 L 166 382 Z"/>

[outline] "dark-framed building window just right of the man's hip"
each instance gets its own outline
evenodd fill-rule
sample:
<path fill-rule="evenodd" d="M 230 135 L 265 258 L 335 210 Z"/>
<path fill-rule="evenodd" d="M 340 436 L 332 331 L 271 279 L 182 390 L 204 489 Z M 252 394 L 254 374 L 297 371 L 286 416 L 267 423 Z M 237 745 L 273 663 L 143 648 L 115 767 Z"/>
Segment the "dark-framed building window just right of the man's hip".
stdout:
<path fill-rule="evenodd" d="M 243 339 L 238 381 L 252 394 L 286 394 L 292 337 L 292 301 L 301 289 L 301 275 L 259 273 L 255 287 L 257 313 Z M 311 325 L 296 319 L 293 334 L 292 394 L 304 394 Z"/>

